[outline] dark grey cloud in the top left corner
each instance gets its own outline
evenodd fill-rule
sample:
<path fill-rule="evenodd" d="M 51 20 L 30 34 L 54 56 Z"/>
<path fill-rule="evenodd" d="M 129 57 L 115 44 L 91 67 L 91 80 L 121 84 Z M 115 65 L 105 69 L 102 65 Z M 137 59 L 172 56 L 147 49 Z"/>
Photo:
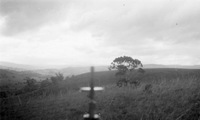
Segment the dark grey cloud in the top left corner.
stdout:
<path fill-rule="evenodd" d="M 69 4 L 61 0 L 0 0 L 0 16 L 5 18 L 3 34 L 12 36 L 63 20 Z"/>

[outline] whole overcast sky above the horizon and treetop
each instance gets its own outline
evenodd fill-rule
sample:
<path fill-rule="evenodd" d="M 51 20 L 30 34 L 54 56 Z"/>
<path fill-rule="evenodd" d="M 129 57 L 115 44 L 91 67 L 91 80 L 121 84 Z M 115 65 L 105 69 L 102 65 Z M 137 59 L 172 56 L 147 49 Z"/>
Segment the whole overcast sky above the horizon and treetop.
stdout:
<path fill-rule="evenodd" d="M 0 61 L 200 64 L 200 0 L 0 0 Z"/>

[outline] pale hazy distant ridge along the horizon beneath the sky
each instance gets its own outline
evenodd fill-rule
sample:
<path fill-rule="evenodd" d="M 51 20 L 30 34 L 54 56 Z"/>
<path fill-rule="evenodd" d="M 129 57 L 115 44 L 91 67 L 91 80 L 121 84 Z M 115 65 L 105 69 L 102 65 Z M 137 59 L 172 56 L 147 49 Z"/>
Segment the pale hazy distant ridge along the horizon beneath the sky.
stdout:
<path fill-rule="evenodd" d="M 108 71 L 109 65 L 95 66 L 95 71 Z M 144 69 L 148 68 L 184 68 L 184 69 L 200 69 L 200 65 L 162 65 L 162 64 L 144 64 Z M 9 69 L 15 71 L 30 71 L 42 75 L 55 75 L 55 73 L 63 73 L 65 76 L 78 75 L 90 71 L 90 66 L 67 67 L 65 65 L 59 67 L 39 67 L 24 64 L 15 64 L 10 62 L 0 62 L 0 69 Z"/>

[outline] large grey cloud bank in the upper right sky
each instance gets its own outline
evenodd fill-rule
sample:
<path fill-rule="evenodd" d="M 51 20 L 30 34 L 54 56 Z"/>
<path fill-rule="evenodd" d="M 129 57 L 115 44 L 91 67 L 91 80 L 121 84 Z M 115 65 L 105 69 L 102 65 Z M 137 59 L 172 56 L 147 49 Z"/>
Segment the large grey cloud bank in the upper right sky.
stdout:
<path fill-rule="evenodd" d="M 173 43 L 196 41 L 199 4 L 197 0 L 101 2 L 93 5 L 95 9 L 80 13 L 72 28 L 104 35 L 110 45 L 140 44 L 147 38 Z"/>

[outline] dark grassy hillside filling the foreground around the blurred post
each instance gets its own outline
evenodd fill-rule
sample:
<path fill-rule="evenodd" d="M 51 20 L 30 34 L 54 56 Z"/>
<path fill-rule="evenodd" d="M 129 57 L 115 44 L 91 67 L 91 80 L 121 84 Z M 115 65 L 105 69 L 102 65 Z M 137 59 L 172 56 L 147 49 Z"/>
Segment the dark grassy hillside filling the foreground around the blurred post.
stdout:
<path fill-rule="evenodd" d="M 117 87 L 114 75 L 95 73 L 96 85 L 105 87 L 96 94 L 102 120 L 200 119 L 200 70 L 147 69 L 138 88 Z M 1 120 L 81 120 L 89 100 L 79 88 L 88 86 L 89 78 L 87 73 L 62 81 L 54 94 L 1 99 Z"/>

